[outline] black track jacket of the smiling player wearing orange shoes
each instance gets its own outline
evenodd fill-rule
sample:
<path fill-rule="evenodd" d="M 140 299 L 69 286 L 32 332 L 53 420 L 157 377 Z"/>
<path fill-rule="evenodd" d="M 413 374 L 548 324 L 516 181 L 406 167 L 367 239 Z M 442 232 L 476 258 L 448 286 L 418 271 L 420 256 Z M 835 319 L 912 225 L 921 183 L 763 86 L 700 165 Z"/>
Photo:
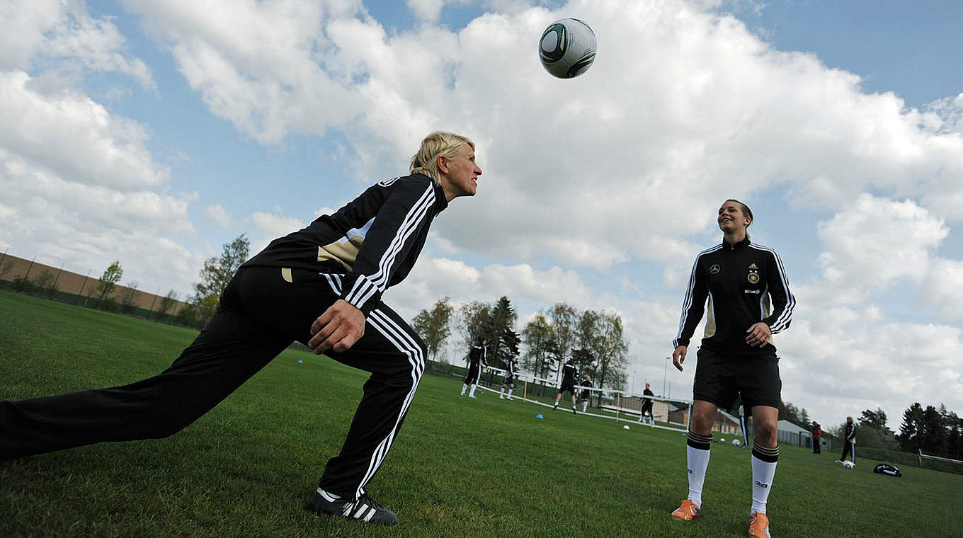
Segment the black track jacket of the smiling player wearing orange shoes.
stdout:
<path fill-rule="evenodd" d="M 745 331 L 765 321 L 776 334 L 789 327 L 793 318 L 795 298 L 782 260 L 775 250 L 748 238 L 736 244 L 722 242 L 696 256 L 673 346 L 689 346 L 707 297 L 702 346 L 718 351 L 774 351 L 771 340 L 763 347 L 746 344 Z"/>

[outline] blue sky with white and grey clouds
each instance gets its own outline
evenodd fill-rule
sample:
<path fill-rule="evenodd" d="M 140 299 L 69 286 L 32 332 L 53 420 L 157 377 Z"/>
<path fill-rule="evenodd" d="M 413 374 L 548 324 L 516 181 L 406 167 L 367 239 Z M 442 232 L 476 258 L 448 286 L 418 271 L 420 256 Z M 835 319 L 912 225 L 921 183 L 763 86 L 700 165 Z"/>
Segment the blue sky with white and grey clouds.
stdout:
<path fill-rule="evenodd" d="M 598 40 L 570 80 L 536 53 L 564 16 Z M 385 293 L 407 319 L 442 296 L 507 295 L 519 330 L 612 310 L 634 388 L 690 397 L 694 364 L 665 357 L 734 197 L 797 300 L 783 398 L 898 430 L 916 401 L 963 412 L 961 21 L 951 0 L 0 0 L 0 249 L 184 297 L 223 243 L 256 251 L 454 131 L 479 191 Z"/>

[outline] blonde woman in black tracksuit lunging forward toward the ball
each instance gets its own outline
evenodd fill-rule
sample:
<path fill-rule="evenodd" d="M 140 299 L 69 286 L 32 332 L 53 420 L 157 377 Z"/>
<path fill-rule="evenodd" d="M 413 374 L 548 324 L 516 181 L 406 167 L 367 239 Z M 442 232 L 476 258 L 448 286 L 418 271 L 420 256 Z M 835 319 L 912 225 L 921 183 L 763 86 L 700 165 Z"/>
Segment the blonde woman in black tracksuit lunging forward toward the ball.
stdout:
<path fill-rule="evenodd" d="M 381 294 L 411 270 L 432 219 L 456 197 L 475 195 L 481 169 L 472 141 L 435 132 L 409 173 L 373 185 L 244 264 L 217 314 L 168 370 L 122 387 L 0 401 L 0 459 L 173 435 L 298 341 L 371 372 L 310 508 L 398 523 L 366 486 L 397 439 L 425 371 L 426 346 Z"/>

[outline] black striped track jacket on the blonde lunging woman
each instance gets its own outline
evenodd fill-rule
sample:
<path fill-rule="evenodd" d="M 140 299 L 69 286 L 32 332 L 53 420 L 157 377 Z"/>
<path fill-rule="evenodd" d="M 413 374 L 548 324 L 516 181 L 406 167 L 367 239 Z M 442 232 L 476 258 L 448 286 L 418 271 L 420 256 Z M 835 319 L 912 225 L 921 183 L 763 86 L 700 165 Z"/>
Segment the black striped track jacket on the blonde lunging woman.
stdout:
<path fill-rule="evenodd" d="M 381 294 L 414 266 L 431 220 L 448 207 L 441 187 L 422 174 L 381 181 L 332 215 L 275 239 L 242 267 L 281 268 L 336 274 L 341 298 L 365 316 Z"/>

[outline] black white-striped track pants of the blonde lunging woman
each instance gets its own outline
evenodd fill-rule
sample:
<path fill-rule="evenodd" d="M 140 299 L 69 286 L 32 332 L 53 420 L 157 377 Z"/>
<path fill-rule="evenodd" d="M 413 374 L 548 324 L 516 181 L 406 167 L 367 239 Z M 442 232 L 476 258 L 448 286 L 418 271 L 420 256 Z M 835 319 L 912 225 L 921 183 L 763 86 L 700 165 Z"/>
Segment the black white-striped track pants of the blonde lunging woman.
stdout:
<path fill-rule="evenodd" d="M 290 279 L 291 281 L 288 281 Z M 167 437 L 193 423 L 264 368 L 292 341 L 306 343 L 311 323 L 340 295 L 337 274 L 241 269 L 194 343 L 166 371 L 121 387 L 0 401 L 0 459 L 104 441 Z M 357 497 L 398 435 L 425 370 L 425 345 L 383 303 L 364 336 L 331 358 L 370 371 L 341 453 L 320 486 Z"/>

